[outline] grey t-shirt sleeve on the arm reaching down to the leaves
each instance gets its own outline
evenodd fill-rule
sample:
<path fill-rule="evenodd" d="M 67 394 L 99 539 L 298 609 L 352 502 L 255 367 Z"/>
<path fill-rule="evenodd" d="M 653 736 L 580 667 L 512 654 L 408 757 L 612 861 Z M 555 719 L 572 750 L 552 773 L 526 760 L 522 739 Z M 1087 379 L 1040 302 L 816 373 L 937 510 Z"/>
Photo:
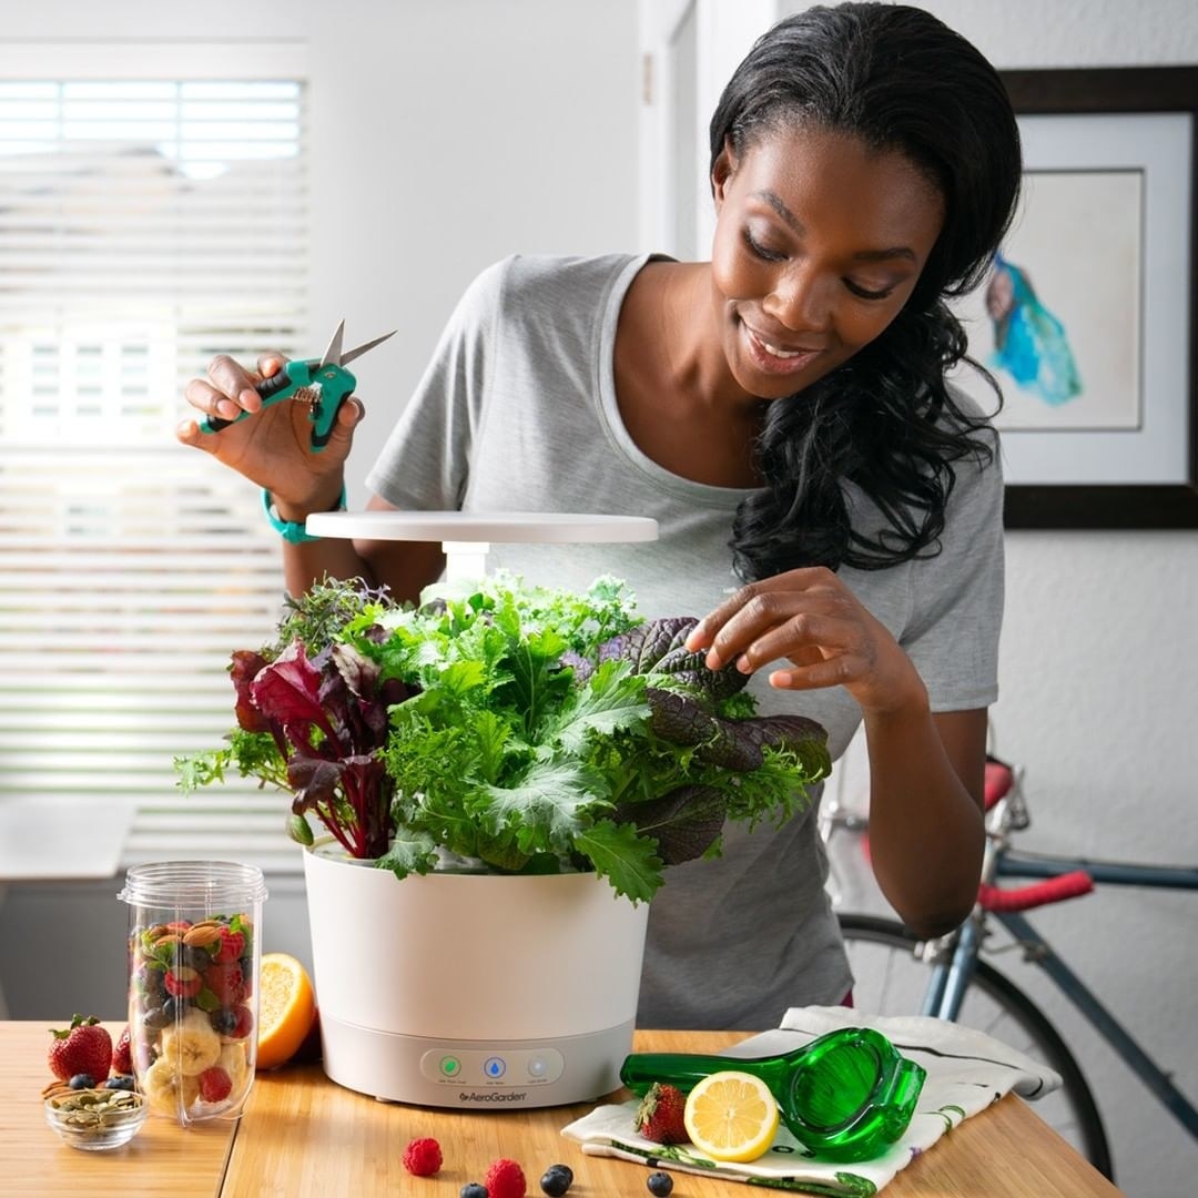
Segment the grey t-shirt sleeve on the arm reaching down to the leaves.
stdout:
<path fill-rule="evenodd" d="M 963 458 L 937 557 L 918 563 L 902 636 L 933 712 L 988 707 L 998 698 L 1003 623 L 1003 470 L 997 434 L 987 462 Z"/>

